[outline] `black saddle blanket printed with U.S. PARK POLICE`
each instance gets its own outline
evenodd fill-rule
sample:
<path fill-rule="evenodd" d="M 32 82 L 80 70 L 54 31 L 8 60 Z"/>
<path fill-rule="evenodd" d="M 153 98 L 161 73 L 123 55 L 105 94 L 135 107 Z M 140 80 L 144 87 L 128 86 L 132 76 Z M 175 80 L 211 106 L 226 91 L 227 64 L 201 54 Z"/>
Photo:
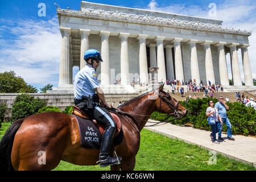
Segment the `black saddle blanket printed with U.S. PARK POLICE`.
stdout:
<path fill-rule="evenodd" d="M 77 119 L 79 126 L 81 147 L 89 149 L 100 149 L 101 148 L 101 132 L 95 123 L 91 119 L 80 118 L 79 116 L 72 114 Z M 118 146 L 123 140 L 123 131 L 114 137 L 113 144 Z"/>

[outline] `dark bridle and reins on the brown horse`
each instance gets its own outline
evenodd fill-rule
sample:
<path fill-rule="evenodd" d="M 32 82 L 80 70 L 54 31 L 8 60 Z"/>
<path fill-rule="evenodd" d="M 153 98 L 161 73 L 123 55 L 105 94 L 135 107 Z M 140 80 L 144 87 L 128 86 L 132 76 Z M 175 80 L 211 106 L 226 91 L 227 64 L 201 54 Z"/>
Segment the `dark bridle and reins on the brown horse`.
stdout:
<path fill-rule="evenodd" d="M 175 119 L 180 119 L 180 115 L 177 113 L 177 107 L 179 106 L 179 101 L 176 102 L 175 105 L 171 104 L 168 101 L 172 100 L 172 97 L 170 96 L 170 94 L 168 94 L 168 96 L 162 96 L 162 93 L 167 94 L 166 92 L 164 92 L 163 90 L 160 90 L 158 97 L 160 98 L 160 104 L 159 104 L 159 112 L 161 111 L 161 105 L 162 105 L 162 100 L 164 102 L 166 102 L 166 104 L 172 108 L 172 110 L 174 110 L 174 113 L 171 114 L 163 114 L 163 115 L 142 115 L 142 114 L 131 114 L 131 113 L 126 113 L 125 111 L 119 110 L 119 109 L 115 109 L 115 111 L 110 110 L 110 112 L 112 113 L 121 113 L 121 114 L 125 114 L 125 115 L 130 115 L 130 117 L 134 118 L 134 119 L 139 119 L 141 121 L 145 121 L 145 122 L 149 122 L 149 123 L 155 123 L 154 125 L 149 125 L 149 126 L 159 126 L 159 125 L 164 125 L 166 123 L 170 123 L 171 121 L 174 121 Z M 150 121 L 146 121 L 144 119 L 141 118 L 137 118 L 134 117 L 134 115 L 136 116 L 142 116 L 142 117 L 159 117 L 159 116 L 167 116 L 166 120 L 160 121 L 160 122 L 150 122 Z M 167 120 L 168 118 L 170 118 L 172 115 L 174 115 L 175 118 L 172 118 L 170 120 Z"/>

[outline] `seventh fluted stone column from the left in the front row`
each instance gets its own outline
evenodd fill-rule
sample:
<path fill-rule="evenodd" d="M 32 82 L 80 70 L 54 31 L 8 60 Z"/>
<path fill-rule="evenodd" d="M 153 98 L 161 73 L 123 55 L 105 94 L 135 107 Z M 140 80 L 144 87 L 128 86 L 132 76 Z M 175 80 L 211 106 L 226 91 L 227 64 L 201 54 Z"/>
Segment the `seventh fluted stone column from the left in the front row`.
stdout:
<path fill-rule="evenodd" d="M 181 47 L 180 42 L 181 38 L 174 38 L 174 61 L 175 61 L 175 76 L 176 80 L 184 80 L 184 72 L 183 72 L 183 62 L 181 55 Z"/>

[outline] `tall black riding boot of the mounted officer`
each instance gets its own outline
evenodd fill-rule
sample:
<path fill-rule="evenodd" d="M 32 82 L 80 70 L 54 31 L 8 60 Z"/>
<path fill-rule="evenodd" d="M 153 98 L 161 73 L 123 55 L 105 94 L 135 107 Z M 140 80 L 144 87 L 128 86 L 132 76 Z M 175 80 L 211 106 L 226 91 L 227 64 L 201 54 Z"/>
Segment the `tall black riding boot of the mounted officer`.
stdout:
<path fill-rule="evenodd" d="M 118 157 L 118 159 L 112 158 L 112 156 L 109 155 L 114 133 L 115 133 L 115 128 L 111 126 L 107 127 L 104 131 L 104 134 L 102 136 L 101 150 L 100 150 L 100 156 L 99 156 L 100 167 L 119 164 L 119 161 L 122 159 L 121 157 Z"/>

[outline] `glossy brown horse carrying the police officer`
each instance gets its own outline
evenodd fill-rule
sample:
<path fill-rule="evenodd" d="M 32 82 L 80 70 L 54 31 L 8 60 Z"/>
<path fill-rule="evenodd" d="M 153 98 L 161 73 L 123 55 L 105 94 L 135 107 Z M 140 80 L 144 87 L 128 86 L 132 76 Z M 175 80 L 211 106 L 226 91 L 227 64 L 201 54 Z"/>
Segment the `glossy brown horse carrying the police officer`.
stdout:
<path fill-rule="evenodd" d="M 118 107 L 130 113 L 117 114 L 123 130 L 122 143 L 114 147 L 121 164 L 112 170 L 133 170 L 139 150 L 140 131 L 154 111 L 184 117 L 187 110 L 170 94 L 158 90 L 142 94 Z M 177 112 L 176 112 L 177 110 Z M 0 143 L 0 169 L 52 170 L 60 160 L 82 165 L 97 165 L 99 150 L 82 148 L 76 118 L 73 115 L 47 112 L 28 116 L 13 124 Z"/>

